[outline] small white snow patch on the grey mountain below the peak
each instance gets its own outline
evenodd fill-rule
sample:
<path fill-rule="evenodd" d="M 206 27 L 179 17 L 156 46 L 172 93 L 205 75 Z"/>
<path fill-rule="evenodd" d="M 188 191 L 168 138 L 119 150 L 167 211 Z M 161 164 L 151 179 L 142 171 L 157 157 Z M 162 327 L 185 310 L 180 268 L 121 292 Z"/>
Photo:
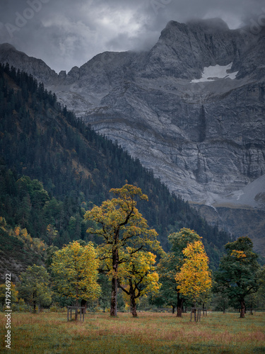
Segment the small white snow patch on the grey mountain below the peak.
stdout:
<path fill-rule="evenodd" d="M 238 72 L 229 72 L 232 68 L 232 62 L 228 65 L 213 65 L 204 67 L 201 73 L 201 79 L 193 79 L 191 82 L 215 81 L 216 79 L 235 79 Z"/>

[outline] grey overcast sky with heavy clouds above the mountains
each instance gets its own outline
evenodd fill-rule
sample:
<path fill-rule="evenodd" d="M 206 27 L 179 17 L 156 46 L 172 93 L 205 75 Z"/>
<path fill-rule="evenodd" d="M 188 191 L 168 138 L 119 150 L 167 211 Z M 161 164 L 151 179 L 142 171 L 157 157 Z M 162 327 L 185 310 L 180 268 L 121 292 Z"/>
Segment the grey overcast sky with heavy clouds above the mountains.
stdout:
<path fill-rule="evenodd" d="M 69 72 L 106 50 L 148 50 L 171 20 L 239 28 L 260 16 L 264 0 L 0 0 L 0 43 Z"/>

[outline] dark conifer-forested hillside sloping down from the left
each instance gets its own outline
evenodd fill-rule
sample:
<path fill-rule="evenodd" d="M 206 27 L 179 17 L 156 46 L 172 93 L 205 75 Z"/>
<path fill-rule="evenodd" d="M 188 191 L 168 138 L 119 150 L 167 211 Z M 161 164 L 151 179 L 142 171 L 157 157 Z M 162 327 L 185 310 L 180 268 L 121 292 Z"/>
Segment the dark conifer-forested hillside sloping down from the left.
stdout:
<path fill-rule="evenodd" d="M 86 239 L 86 210 L 110 198 L 111 188 L 129 183 L 148 195 L 149 201 L 140 203 L 139 209 L 158 232 L 165 251 L 168 234 L 189 227 L 204 238 L 211 264 L 218 264 L 230 235 L 209 226 L 138 160 L 61 107 L 54 93 L 33 76 L 8 64 L 0 65 L 0 119 L 2 253 L 8 251 L 7 240 L 25 244 L 25 231 L 22 241 L 18 237 L 23 229 L 47 246 Z M 9 239 L 8 230 L 13 232 Z M 27 252 L 38 255 L 40 250 L 34 247 Z M 41 263 L 42 257 L 37 257 Z"/>

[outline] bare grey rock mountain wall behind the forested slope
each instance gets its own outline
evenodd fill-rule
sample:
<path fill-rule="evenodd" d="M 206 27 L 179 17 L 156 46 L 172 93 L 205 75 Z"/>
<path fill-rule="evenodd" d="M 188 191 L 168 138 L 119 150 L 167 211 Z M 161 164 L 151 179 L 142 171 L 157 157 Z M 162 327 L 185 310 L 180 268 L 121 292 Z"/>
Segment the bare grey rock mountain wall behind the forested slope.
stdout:
<path fill-rule="evenodd" d="M 213 207 L 242 200 L 265 209 L 265 183 L 245 194 L 265 173 L 264 28 L 254 35 L 218 19 L 170 21 L 148 52 L 104 52 L 59 75 L 7 52 L 0 47 L 1 62 L 45 81 L 172 192 Z"/>

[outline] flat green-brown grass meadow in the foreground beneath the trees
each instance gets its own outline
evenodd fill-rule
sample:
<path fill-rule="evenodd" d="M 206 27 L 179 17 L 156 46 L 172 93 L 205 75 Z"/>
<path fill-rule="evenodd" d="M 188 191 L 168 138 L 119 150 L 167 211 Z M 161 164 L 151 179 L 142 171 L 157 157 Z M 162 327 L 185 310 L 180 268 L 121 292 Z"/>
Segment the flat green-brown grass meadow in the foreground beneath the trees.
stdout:
<path fill-rule="evenodd" d="M 5 349 L 6 318 L 1 319 L 1 353 L 265 353 L 265 313 L 210 312 L 201 322 L 190 314 L 140 312 L 88 313 L 67 322 L 66 313 L 13 312 L 11 349 Z"/>

